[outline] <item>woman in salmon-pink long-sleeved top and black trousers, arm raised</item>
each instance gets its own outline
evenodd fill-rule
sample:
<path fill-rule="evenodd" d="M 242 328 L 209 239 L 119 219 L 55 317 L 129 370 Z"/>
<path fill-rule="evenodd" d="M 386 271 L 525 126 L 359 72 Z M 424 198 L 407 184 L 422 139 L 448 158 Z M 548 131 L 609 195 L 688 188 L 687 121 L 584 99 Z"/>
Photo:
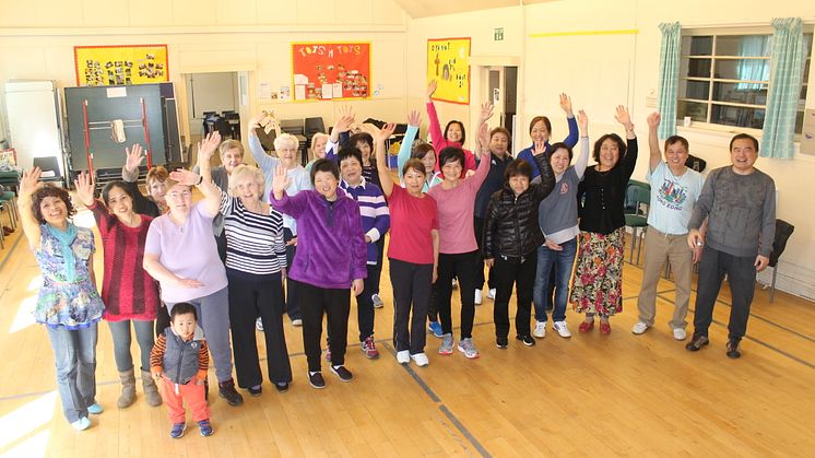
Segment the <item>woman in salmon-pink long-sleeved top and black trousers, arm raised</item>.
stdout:
<path fill-rule="evenodd" d="M 464 153 L 460 148 L 448 146 L 441 150 L 439 162 L 445 181 L 430 189 L 428 195 L 436 199 L 439 220 L 438 281 L 436 282 L 436 309 L 441 320 L 440 354 L 452 354 L 452 318 L 450 300 L 452 279 L 459 279 L 461 293 L 461 340 L 458 349 L 469 359 L 479 357 L 472 339 L 475 319 L 475 263 L 479 245 L 473 230 L 475 195 L 489 173 L 489 132 L 486 124 L 479 131 L 481 163 L 475 175 L 462 179 Z"/>

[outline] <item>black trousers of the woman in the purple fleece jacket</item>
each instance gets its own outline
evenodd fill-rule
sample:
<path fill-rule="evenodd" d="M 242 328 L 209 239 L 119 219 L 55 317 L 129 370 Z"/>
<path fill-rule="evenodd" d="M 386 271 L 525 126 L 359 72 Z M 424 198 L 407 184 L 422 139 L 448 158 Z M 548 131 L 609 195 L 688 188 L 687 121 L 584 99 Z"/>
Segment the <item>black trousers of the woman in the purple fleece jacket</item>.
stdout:
<path fill-rule="evenodd" d="M 295 281 L 296 282 L 296 281 Z M 345 364 L 345 347 L 349 343 L 349 314 L 351 312 L 351 290 L 334 290 L 296 282 L 300 295 L 303 313 L 303 348 L 306 350 L 308 371 L 320 371 L 320 339 L 322 338 L 322 316 L 328 315 L 329 350 L 331 364 Z"/>

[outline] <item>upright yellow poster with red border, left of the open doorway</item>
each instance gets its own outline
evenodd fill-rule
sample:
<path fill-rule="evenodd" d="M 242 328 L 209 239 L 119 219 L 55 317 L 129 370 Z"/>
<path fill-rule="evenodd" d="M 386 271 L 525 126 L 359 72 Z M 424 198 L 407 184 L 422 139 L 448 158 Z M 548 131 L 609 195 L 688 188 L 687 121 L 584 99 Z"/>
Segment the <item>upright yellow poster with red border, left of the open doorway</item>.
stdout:
<path fill-rule="evenodd" d="M 434 99 L 470 104 L 470 38 L 427 40 L 427 82 L 433 80 Z"/>

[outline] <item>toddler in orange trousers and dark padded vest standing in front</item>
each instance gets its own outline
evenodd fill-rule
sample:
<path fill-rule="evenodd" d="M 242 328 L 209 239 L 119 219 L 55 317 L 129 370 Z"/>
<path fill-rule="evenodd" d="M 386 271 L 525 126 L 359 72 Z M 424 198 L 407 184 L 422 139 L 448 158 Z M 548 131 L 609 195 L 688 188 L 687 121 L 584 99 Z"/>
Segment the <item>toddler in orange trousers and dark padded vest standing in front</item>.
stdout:
<path fill-rule="evenodd" d="M 184 401 L 192 409 L 202 436 L 211 436 L 210 408 L 204 399 L 204 380 L 210 354 L 198 327 L 196 307 L 181 302 L 173 307 L 170 326 L 158 336 L 150 354 L 150 372 L 161 388 L 164 403 L 169 409 L 173 428 L 169 436 L 179 438 L 187 430 Z"/>

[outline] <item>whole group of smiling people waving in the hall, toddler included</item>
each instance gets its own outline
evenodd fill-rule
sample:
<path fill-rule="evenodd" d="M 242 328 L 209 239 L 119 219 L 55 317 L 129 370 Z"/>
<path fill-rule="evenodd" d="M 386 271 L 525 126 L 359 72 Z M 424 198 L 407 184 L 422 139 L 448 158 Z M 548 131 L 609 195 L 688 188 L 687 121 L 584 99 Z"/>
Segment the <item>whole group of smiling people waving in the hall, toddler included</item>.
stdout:
<path fill-rule="evenodd" d="M 562 94 L 566 139 L 552 143 L 550 119 L 535 117 L 529 127 L 532 144 L 513 158 L 509 131 L 487 128 L 488 104 L 481 110 L 474 151 L 464 149 L 462 122 L 452 120 L 442 131 L 432 98 L 435 87 L 432 83 L 427 90 L 432 143 L 414 141 L 421 115 L 412 111 L 398 178 L 383 166 L 395 125 L 365 125 L 351 134 L 355 118 L 350 109 L 342 110 L 330 136 L 315 136 L 314 161 L 306 167 L 297 162 L 299 144 L 293 136 L 279 134 L 273 155 L 263 150 L 257 131 L 267 116 L 260 115 L 250 120 L 248 137 L 258 167 L 243 163 L 240 142 L 222 142 L 214 132 L 199 143 L 193 169 L 151 168 L 146 197 L 135 185 L 143 161 L 138 144 L 126 151 L 122 180 L 107 184 L 102 199 L 95 198 L 93 177 L 80 174 L 76 195 L 93 212 L 103 240 L 101 294 L 93 273 L 93 233 L 72 223 L 69 193 L 39 184 L 37 168 L 24 172 L 23 228 L 44 279 L 35 317 L 48 329 L 68 421 L 84 430 L 91 425 L 88 414 L 103 411 L 94 378 L 103 318 L 121 378 L 117 407 L 127 408 L 137 398 L 132 324 L 146 402 L 167 406 L 172 437 L 186 431 L 184 402 L 200 433 L 213 434 L 205 401 L 210 356 L 218 395 L 231 406 L 244 401 L 233 365 L 238 388 L 262 394 L 256 327 L 263 331 L 272 386 L 288 389 L 284 315 L 302 326 L 309 384 L 326 387 L 323 357 L 340 380 L 351 381 L 345 366 L 351 293 L 359 348 L 376 359 L 375 308 L 382 306 L 385 256 L 400 364 L 429 364 L 427 328 L 440 339 L 439 354 L 458 350 L 479 357 L 472 331 L 485 281 L 499 349 L 509 345 L 513 287 L 516 339 L 523 345 L 545 337 L 547 309 L 553 310 L 552 329 L 570 337 L 568 302 L 584 314 L 580 332 L 590 332 L 598 319 L 600 332 L 610 333 L 610 318 L 623 305 L 624 201 L 638 155 L 627 109 L 618 106 L 615 114 L 626 138 L 600 137 L 593 145 L 597 164 L 589 166 L 588 116 L 576 116 Z M 727 274 L 733 291 L 728 355 L 737 357 L 755 272 L 767 266 L 771 249 L 773 181 L 754 167 L 758 142 L 747 134 L 731 142 L 732 166 L 712 171 L 707 180 L 685 166 L 689 146 L 682 137 L 665 141 L 663 161 L 659 122 L 658 114 L 648 117 L 652 191 L 633 332 L 654 325 L 657 282 L 669 261 L 677 291 L 670 326 L 675 339 L 686 339 L 692 268 L 699 262 L 695 329 L 686 347 L 696 351 L 709 342 L 713 304 Z M 213 168 L 216 151 L 222 165 Z M 198 202 L 193 188 L 203 196 Z M 454 284 L 461 301 L 458 342 Z"/>

